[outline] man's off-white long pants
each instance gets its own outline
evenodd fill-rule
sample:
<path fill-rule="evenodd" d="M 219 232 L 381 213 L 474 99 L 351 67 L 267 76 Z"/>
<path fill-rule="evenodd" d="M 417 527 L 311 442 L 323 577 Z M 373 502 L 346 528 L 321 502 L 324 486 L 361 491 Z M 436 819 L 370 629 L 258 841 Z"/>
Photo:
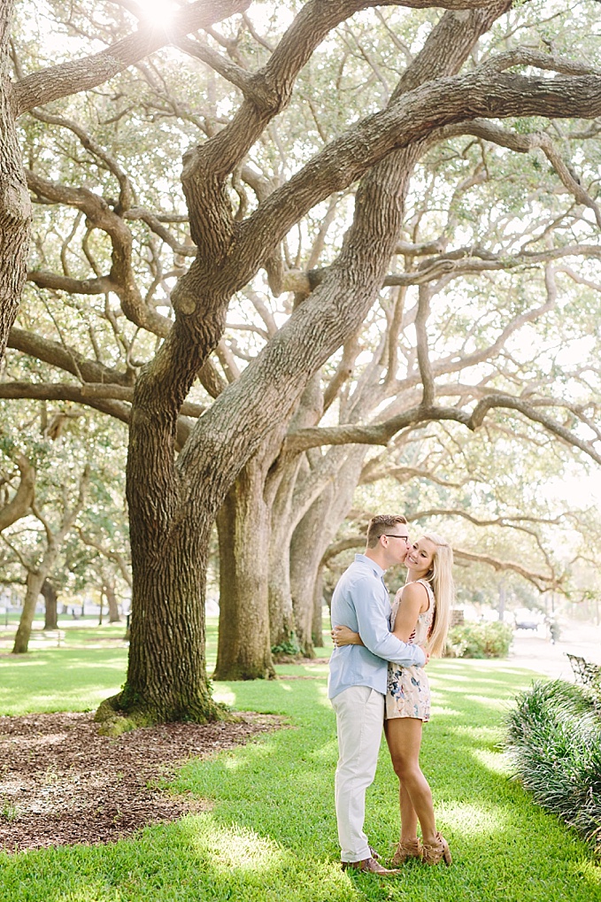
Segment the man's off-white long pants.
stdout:
<path fill-rule="evenodd" d="M 365 790 L 374 782 L 384 725 L 384 695 L 369 686 L 351 686 L 335 695 L 338 765 L 336 816 L 342 861 L 369 858 L 363 830 Z"/>

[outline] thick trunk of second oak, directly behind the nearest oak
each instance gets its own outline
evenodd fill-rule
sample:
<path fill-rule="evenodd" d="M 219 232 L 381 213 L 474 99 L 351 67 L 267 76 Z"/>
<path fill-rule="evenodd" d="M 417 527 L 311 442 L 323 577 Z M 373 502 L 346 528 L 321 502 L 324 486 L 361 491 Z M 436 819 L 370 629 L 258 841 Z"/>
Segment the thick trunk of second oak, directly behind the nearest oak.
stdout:
<path fill-rule="evenodd" d="M 264 483 L 264 467 L 254 457 L 217 514 L 219 632 L 214 679 L 275 676 L 266 566 L 271 511 Z"/>

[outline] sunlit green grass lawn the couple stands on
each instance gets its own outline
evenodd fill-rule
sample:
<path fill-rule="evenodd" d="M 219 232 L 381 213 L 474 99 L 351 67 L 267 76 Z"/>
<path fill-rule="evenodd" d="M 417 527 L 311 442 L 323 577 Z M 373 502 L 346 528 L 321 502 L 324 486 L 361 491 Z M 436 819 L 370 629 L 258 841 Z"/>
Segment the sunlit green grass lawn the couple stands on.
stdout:
<path fill-rule="evenodd" d="M 125 654 L 60 648 L 0 658 L 0 713 L 93 707 L 123 681 Z M 274 682 L 215 686 L 220 701 L 281 713 L 289 726 L 180 770 L 171 790 L 208 799 L 209 810 L 112 845 L 0 855 L 0 900 L 601 902 L 598 862 L 511 781 L 499 749 L 504 712 L 532 674 L 503 661 L 430 664 L 434 704 L 422 767 L 454 863 L 429 869 L 411 862 L 384 880 L 342 873 L 337 862 L 327 666 L 278 671 Z M 384 742 L 366 829 L 381 852 L 398 831 L 396 778 Z"/>

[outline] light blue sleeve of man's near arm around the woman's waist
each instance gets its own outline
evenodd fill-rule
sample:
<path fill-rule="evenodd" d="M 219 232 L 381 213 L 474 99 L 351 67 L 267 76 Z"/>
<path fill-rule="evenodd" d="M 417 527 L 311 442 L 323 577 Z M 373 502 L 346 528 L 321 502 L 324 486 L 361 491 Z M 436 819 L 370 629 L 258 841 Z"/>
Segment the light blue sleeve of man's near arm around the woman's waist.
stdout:
<path fill-rule="evenodd" d="M 359 635 L 366 649 L 400 667 L 411 667 L 413 664 L 423 667 L 426 657 L 420 646 L 402 642 L 390 631 L 390 605 L 384 583 L 380 587 L 377 580 L 359 580 L 353 586 L 353 602 Z"/>

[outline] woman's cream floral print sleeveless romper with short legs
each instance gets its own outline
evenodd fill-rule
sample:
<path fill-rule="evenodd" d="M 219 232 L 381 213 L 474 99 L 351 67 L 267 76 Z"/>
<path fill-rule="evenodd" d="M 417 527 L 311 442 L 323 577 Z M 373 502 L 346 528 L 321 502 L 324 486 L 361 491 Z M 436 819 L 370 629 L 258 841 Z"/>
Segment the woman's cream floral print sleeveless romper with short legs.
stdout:
<path fill-rule="evenodd" d="M 425 579 L 416 582 L 426 587 L 430 606 L 418 617 L 415 630 L 409 637 L 410 645 L 423 645 L 428 639 L 428 633 L 434 619 L 434 593 L 430 583 Z M 391 612 L 391 630 L 394 629 L 394 620 L 401 603 L 402 589 L 394 596 L 393 610 Z M 423 667 L 399 667 L 398 664 L 388 665 L 388 686 L 386 691 L 386 720 L 393 717 L 415 717 L 426 723 L 430 720 L 430 684 Z"/>

